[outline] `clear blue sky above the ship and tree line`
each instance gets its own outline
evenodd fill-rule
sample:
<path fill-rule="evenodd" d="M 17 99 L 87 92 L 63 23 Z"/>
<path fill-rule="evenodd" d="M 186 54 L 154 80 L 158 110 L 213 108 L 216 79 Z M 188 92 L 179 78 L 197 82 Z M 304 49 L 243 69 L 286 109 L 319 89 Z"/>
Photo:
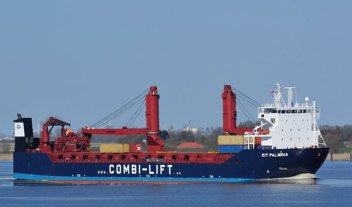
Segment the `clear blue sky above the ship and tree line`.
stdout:
<path fill-rule="evenodd" d="M 164 128 L 221 126 L 224 84 L 271 103 L 277 80 L 295 80 L 300 103 L 316 99 L 318 124 L 352 124 L 344 109 L 351 8 L 342 0 L 0 1 L 0 133 L 13 134 L 18 113 L 33 126 L 58 115 L 76 130 L 154 85 Z M 133 125 L 145 127 L 144 113 Z"/>

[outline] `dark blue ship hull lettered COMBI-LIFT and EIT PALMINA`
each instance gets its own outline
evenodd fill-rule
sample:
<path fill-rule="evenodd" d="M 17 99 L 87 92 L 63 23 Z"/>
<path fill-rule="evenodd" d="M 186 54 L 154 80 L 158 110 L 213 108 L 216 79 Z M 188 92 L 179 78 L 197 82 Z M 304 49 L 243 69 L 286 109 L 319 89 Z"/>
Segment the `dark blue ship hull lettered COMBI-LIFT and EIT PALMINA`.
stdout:
<path fill-rule="evenodd" d="M 13 153 L 15 179 L 66 183 L 241 182 L 315 174 L 329 148 L 242 150 L 213 163 L 54 163 L 46 153 Z"/>

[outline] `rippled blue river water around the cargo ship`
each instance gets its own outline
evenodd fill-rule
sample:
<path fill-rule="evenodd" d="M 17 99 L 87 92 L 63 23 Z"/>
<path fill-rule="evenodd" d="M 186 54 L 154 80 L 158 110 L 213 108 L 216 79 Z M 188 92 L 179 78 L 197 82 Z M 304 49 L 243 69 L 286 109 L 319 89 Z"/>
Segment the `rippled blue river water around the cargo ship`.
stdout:
<path fill-rule="evenodd" d="M 0 206 L 352 206 L 352 162 L 326 161 L 314 175 L 247 183 L 73 185 L 12 180 L 0 161 Z"/>

